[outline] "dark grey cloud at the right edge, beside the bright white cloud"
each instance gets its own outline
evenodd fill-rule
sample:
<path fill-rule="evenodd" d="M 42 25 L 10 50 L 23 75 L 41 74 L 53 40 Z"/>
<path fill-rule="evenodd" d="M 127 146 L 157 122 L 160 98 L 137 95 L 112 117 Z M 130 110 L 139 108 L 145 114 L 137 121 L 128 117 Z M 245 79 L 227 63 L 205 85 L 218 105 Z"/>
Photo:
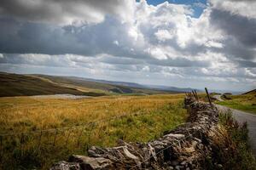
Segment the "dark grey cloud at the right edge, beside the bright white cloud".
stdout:
<path fill-rule="evenodd" d="M 226 35 L 224 48 L 215 51 L 224 54 L 239 67 L 255 67 L 256 19 L 212 8 L 210 20 L 212 26 Z"/>

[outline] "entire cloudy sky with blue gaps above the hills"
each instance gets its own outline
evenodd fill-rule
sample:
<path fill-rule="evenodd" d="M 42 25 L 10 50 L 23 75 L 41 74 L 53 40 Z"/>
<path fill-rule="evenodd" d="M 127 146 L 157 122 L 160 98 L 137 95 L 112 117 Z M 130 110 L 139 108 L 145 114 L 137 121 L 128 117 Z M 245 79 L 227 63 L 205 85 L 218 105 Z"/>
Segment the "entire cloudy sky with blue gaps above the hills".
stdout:
<path fill-rule="evenodd" d="M 256 88 L 256 1 L 1 0 L 0 71 Z"/>

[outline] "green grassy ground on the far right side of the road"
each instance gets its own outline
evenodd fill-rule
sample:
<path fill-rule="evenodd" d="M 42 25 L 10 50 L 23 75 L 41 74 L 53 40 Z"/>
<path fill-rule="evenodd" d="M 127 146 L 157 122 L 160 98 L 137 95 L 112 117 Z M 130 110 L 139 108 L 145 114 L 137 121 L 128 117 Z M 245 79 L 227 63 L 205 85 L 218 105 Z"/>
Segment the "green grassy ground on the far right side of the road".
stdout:
<path fill-rule="evenodd" d="M 216 102 L 218 105 L 256 114 L 256 94 L 229 95 L 231 99 Z"/>

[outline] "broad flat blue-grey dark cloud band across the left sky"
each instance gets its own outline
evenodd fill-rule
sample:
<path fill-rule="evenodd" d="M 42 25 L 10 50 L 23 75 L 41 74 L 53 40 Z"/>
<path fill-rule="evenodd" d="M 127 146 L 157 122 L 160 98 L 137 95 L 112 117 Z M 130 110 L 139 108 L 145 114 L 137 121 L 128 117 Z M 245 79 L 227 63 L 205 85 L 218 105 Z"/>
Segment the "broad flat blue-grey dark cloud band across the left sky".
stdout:
<path fill-rule="evenodd" d="M 131 48 L 136 49 L 125 24 L 110 17 L 93 26 L 51 26 L 5 18 L 0 18 L 0 25 L 0 53 L 132 56 Z"/>

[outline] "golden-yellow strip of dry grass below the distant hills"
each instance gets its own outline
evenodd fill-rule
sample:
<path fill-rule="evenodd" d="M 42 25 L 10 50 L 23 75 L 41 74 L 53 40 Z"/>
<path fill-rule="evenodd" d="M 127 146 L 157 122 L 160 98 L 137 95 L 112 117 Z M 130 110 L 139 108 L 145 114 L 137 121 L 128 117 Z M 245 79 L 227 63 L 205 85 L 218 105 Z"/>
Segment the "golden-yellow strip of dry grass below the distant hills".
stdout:
<path fill-rule="evenodd" d="M 183 99 L 183 94 L 108 96 L 93 99 L 1 98 L 0 132 L 78 125 L 109 116 L 157 110 L 180 99 Z"/>

